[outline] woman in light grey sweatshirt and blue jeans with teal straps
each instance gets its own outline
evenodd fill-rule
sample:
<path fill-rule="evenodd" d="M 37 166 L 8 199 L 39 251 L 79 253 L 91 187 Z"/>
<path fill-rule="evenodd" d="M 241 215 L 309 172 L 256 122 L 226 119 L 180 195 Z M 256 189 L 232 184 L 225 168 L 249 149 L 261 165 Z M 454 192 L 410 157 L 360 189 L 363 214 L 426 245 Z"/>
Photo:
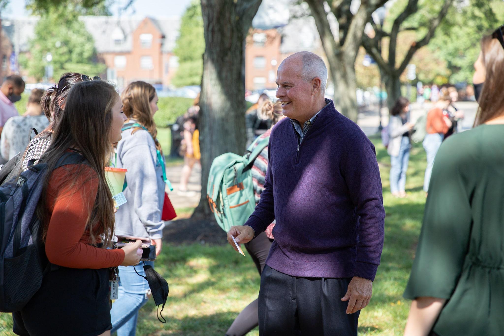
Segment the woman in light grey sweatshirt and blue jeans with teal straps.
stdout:
<path fill-rule="evenodd" d="M 157 141 L 153 115 L 158 110 L 154 87 L 145 82 L 133 82 L 121 94 L 124 114 L 122 140 L 117 144 L 117 168 L 126 168 L 127 187 L 123 204 L 115 214 L 115 233 L 125 236 L 150 238 L 161 252 L 164 221 L 161 219 L 165 167 L 161 145 Z M 153 261 L 145 261 L 154 265 Z M 119 267 L 119 298 L 111 311 L 112 332 L 134 335 L 138 311 L 147 302 L 149 284 L 138 276 L 145 276 L 142 267 Z"/>

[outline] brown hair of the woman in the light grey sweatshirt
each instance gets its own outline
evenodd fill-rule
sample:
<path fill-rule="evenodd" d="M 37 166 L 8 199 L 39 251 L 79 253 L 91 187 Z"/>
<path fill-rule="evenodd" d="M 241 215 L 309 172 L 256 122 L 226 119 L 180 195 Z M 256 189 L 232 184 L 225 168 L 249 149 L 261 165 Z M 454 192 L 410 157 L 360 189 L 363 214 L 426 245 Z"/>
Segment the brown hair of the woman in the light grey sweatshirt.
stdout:
<path fill-rule="evenodd" d="M 124 114 L 128 119 L 134 119 L 139 124 L 147 128 L 154 138 L 156 148 L 160 151 L 161 145 L 157 141 L 157 127 L 154 119 L 152 118 L 152 111 L 150 102 L 154 99 L 156 89 L 149 83 L 142 81 L 133 82 L 122 91 L 121 99 Z M 135 127 L 132 134 L 142 127 Z"/>

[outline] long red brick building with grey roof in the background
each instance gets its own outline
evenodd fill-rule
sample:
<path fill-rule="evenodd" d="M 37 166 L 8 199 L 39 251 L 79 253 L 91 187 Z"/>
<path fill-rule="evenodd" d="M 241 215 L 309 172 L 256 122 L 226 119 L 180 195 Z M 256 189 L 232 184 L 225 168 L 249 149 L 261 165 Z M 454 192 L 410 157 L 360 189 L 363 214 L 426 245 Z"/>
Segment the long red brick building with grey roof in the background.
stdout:
<path fill-rule="evenodd" d="M 11 74 L 9 55 L 29 52 L 38 16 L 3 20 L 2 62 L 0 78 Z M 178 17 L 115 17 L 81 16 L 93 36 L 98 58 L 107 65 L 103 78 L 116 83 L 119 89 L 134 81 L 145 81 L 157 89 L 171 87 L 178 68 L 173 55 L 179 34 Z M 253 29 L 245 47 L 245 89 L 276 88 L 278 66 L 294 52 L 320 51 L 320 39 L 313 18 L 293 19 L 287 25 L 268 30 Z M 7 58 L 5 57 L 7 55 Z M 20 73 L 27 83 L 23 69 Z"/>

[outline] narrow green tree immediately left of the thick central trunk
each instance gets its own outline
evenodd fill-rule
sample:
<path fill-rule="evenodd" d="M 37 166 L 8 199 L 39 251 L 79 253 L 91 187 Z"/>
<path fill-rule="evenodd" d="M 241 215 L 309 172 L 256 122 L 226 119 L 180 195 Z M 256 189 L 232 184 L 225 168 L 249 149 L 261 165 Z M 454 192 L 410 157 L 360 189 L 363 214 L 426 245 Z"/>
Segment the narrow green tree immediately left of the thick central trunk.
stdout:
<path fill-rule="evenodd" d="M 173 78 L 173 85 L 176 87 L 200 85 L 203 74 L 205 37 L 203 36 L 201 5 L 197 0 L 193 0 L 182 16 L 180 36 L 173 52 L 178 57 L 179 64 Z"/>

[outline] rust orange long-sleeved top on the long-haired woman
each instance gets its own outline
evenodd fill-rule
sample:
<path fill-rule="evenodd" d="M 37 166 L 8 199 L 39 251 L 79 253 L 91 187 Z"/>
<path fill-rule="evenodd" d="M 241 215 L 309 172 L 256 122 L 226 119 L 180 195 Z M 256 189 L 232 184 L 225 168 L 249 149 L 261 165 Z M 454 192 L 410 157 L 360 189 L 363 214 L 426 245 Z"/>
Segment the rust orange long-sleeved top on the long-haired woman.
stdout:
<path fill-rule="evenodd" d="M 68 165 L 52 172 L 46 195 L 50 214 L 45 241 L 47 258 L 51 263 L 71 268 L 118 266 L 124 260 L 122 249 L 89 245 L 86 223 L 96 200 L 98 176 L 91 167 L 83 165 L 77 183 L 71 189 L 66 175 L 77 169 L 78 165 Z M 95 236 L 103 232 L 100 229 Z"/>

